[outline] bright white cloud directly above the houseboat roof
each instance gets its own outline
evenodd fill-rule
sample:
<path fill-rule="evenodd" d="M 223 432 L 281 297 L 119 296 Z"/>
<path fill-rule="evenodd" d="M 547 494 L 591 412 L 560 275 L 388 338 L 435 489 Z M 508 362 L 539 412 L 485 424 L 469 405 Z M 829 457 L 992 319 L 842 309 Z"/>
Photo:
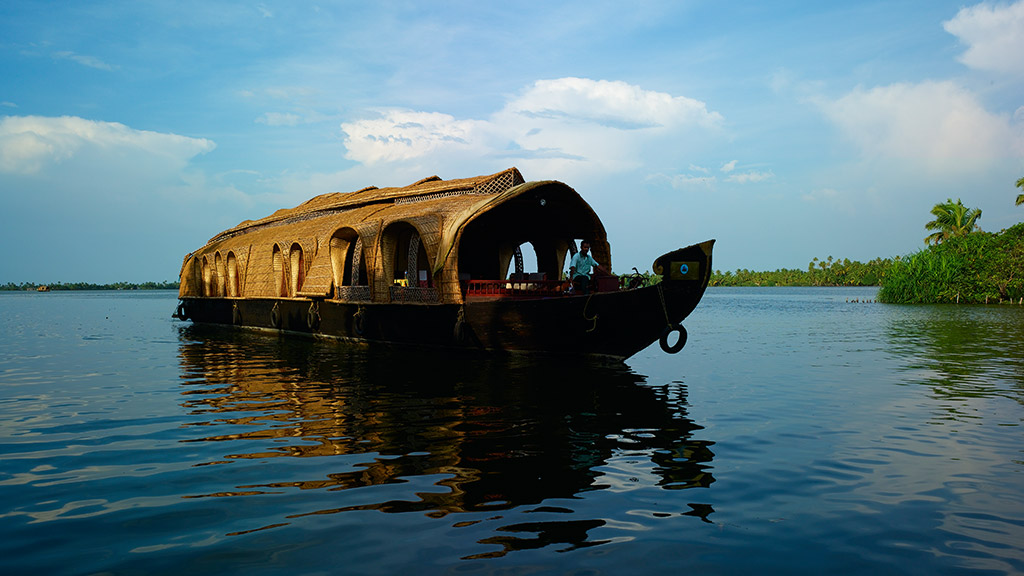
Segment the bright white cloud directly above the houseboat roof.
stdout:
<path fill-rule="evenodd" d="M 409 110 L 379 114 L 342 124 L 347 158 L 375 164 L 455 154 L 615 171 L 678 153 L 694 140 L 681 136 L 713 133 L 723 121 L 692 98 L 585 78 L 538 81 L 486 119 Z"/>

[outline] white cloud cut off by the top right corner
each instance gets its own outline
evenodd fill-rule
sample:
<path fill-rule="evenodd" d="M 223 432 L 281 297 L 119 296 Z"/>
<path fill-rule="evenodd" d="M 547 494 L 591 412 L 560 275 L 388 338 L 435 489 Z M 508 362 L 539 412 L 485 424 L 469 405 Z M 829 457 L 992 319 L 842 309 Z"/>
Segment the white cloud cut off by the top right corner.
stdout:
<path fill-rule="evenodd" d="M 959 57 L 966 66 L 1024 75 L 1024 1 L 962 8 L 942 26 L 967 44 Z"/>

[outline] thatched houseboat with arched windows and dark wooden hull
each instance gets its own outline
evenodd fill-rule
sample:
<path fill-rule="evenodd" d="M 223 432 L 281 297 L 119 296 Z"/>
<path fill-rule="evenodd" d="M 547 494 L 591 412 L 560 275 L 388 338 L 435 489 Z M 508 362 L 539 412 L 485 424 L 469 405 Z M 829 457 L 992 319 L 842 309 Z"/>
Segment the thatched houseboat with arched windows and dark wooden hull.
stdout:
<path fill-rule="evenodd" d="M 679 352 L 715 241 L 658 256 L 650 283 L 595 269 L 585 294 L 564 279 L 584 239 L 612 270 L 580 194 L 516 168 L 325 194 L 187 254 L 174 316 L 360 342 L 625 360 L 659 340 Z"/>

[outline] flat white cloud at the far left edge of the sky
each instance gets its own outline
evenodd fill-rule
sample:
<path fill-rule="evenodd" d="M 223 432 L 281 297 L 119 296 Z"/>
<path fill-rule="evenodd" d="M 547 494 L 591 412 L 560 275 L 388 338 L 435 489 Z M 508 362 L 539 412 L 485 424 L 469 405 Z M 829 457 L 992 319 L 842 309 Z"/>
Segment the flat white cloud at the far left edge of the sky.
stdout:
<path fill-rule="evenodd" d="M 34 174 L 100 149 L 159 158 L 170 169 L 214 149 L 205 138 L 135 130 L 116 122 L 63 116 L 7 116 L 0 118 L 0 172 Z M 131 154 L 129 154 L 130 156 Z"/>

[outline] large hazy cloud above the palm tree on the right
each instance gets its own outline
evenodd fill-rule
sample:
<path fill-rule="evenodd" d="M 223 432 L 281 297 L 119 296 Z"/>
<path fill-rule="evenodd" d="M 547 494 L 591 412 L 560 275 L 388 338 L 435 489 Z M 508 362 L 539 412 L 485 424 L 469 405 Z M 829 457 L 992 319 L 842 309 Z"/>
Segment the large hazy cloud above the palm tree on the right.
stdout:
<path fill-rule="evenodd" d="M 952 82 L 857 88 L 818 104 L 867 158 L 979 168 L 1024 157 L 1020 124 L 990 114 Z"/>

